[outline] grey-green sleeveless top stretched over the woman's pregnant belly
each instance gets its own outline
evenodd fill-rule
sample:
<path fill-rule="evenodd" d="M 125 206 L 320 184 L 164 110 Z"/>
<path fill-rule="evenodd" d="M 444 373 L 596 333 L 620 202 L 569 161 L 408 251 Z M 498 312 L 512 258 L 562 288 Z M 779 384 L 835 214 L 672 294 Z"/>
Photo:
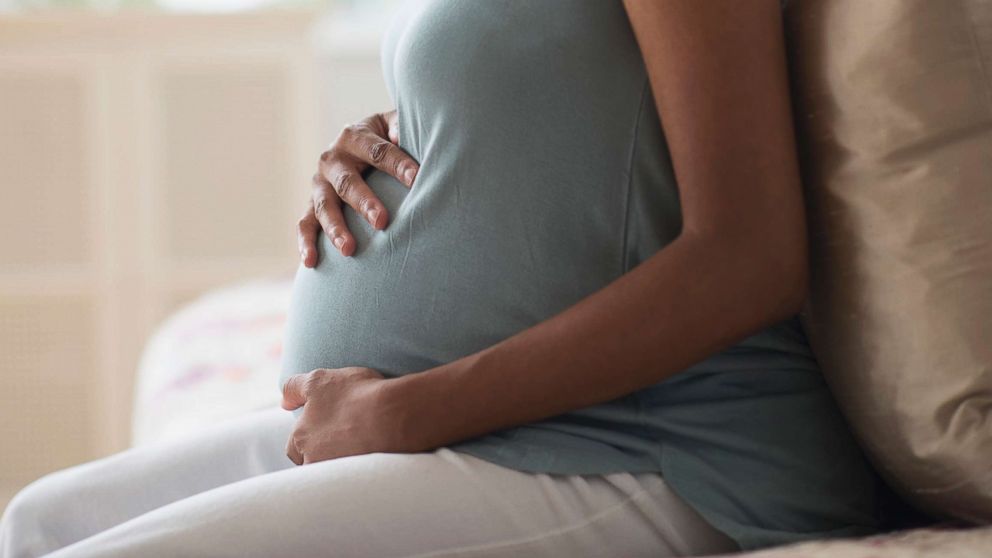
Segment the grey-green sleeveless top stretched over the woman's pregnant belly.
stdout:
<path fill-rule="evenodd" d="M 421 170 L 412 190 L 369 173 L 389 227 L 373 232 L 347 208 L 356 254 L 322 235 L 320 264 L 299 269 L 280 385 L 315 368 L 408 374 L 482 350 L 678 234 L 677 185 L 619 0 L 414 1 L 388 29 L 382 66 L 400 146 Z M 795 318 L 626 397 L 450 447 L 524 471 L 661 472 L 745 549 L 876 526 L 873 473 Z"/>

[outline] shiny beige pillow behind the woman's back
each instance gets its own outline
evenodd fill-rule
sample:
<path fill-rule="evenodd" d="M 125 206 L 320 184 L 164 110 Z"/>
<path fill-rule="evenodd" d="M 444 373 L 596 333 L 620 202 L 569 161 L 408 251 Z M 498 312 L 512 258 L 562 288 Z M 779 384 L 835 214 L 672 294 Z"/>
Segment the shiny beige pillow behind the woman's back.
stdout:
<path fill-rule="evenodd" d="M 790 0 L 803 323 L 869 457 L 992 521 L 992 0 Z"/>

